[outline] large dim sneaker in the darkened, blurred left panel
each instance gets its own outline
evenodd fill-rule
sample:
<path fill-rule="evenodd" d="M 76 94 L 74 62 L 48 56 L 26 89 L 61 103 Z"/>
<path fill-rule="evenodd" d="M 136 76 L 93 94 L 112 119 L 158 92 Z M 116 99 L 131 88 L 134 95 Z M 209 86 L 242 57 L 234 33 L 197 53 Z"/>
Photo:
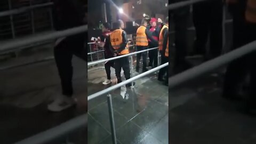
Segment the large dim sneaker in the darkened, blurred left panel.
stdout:
<path fill-rule="evenodd" d="M 66 95 L 60 95 L 47 106 L 47 109 L 50 111 L 59 112 L 73 105 L 75 105 L 75 100 L 73 98 L 69 98 Z"/>

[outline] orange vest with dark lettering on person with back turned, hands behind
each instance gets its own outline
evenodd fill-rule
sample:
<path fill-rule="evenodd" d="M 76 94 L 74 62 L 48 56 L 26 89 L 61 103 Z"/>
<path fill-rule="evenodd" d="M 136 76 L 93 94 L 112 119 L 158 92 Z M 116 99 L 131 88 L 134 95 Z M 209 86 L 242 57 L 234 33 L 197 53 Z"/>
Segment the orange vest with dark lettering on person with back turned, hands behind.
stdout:
<path fill-rule="evenodd" d="M 124 30 L 122 29 L 116 29 L 110 34 L 111 45 L 115 50 L 118 50 L 121 44 L 123 43 L 123 37 L 122 37 L 123 31 Z M 128 45 L 126 45 L 125 49 L 118 54 L 124 55 L 128 53 L 129 53 L 129 49 L 128 49 Z"/>

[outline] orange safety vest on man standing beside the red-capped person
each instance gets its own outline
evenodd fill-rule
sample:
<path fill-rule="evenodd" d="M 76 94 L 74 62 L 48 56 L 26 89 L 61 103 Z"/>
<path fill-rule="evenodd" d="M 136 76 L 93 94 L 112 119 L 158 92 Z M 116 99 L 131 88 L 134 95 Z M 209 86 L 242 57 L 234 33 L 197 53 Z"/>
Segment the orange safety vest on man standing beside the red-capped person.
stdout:
<path fill-rule="evenodd" d="M 145 26 L 140 26 L 137 29 L 136 45 L 137 46 L 148 46 L 148 38 L 146 35 L 146 27 Z"/>

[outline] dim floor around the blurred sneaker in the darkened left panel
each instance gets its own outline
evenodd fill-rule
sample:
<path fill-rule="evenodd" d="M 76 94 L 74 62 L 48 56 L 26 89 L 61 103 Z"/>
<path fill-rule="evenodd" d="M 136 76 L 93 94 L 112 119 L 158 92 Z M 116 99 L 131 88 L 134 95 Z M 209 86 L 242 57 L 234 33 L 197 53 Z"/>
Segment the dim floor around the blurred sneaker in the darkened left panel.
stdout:
<path fill-rule="evenodd" d="M 52 50 L 52 49 L 51 49 Z M 44 51 L 44 57 L 52 51 Z M 39 55 L 42 55 L 42 52 Z M 37 52 L 1 62 L 1 67 L 37 59 Z M 86 113 L 86 62 L 74 57 L 74 96 L 79 103 L 61 113 L 47 111 L 47 103 L 61 93 L 54 61 L 0 71 L 0 143 L 14 143 Z M 54 143 L 69 139 L 86 143 L 86 127 Z"/>

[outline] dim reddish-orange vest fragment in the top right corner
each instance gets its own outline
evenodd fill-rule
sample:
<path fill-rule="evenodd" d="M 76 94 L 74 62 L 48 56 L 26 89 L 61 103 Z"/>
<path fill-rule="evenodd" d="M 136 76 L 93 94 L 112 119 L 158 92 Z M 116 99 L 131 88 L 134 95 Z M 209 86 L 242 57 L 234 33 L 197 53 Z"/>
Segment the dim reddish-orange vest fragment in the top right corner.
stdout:
<path fill-rule="evenodd" d="M 256 1 L 255 0 L 247 1 L 245 19 L 248 22 L 256 23 Z"/>

